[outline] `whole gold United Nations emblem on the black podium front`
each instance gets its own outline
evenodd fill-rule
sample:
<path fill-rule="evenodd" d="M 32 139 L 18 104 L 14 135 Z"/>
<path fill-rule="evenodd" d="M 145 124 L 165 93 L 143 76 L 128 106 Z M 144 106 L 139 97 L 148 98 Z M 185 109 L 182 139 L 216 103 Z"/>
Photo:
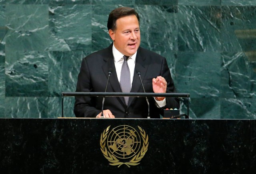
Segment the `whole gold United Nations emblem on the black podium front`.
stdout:
<path fill-rule="evenodd" d="M 100 136 L 100 149 L 112 166 L 136 166 L 148 150 L 148 135 L 138 126 L 136 129 L 121 125 L 105 129 Z"/>

